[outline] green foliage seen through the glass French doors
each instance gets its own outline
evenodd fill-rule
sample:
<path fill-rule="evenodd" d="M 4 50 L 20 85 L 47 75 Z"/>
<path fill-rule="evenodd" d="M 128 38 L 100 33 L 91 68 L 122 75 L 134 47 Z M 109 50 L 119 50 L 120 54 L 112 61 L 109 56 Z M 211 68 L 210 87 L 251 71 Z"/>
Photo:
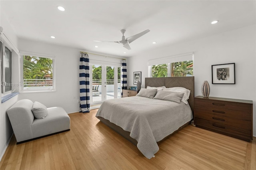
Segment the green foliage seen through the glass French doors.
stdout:
<path fill-rule="evenodd" d="M 102 66 L 98 65 L 92 65 L 92 79 L 93 80 L 101 80 L 102 75 Z M 121 67 L 118 67 L 118 81 L 120 81 L 120 75 L 121 75 Z M 114 67 L 107 66 L 107 80 L 113 80 L 114 81 Z M 108 84 L 114 84 L 114 83 L 108 83 Z"/>

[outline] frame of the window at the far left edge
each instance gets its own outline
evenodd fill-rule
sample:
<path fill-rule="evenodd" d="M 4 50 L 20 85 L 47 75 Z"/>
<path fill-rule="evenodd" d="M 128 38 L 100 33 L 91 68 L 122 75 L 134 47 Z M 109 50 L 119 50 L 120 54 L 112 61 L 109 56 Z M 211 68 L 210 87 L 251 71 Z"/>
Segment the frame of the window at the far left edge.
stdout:
<path fill-rule="evenodd" d="M 0 43 L 2 44 L 2 49 L 3 51 L 0 50 L 0 53 L 1 53 L 1 57 L 2 57 L 2 61 L 1 61 L 1 87 L 3 88 L 3 93 L 2 93 L 2 88 L 1 88 L 1 96 L 6 96 L 10 93 L 12 93 L 12 53 L 13 53 L 13 49 L 7 44 L 5 43 L 4 41 L 0 41 Z M 11 90 L 9 91 L 5 91 L 5 86 L 4 84 L 6 84 L 5 82 L 5 57 L 3 56 L 4 55 L 4 51 L 5 51 L 5 48 L 9 49 L 10 52 L 11 52 L 11 83 L 8 83 L 10 84 L 11 86 Z M 3 67 L 2 67 L 2 63 L 3 63 Z"/>

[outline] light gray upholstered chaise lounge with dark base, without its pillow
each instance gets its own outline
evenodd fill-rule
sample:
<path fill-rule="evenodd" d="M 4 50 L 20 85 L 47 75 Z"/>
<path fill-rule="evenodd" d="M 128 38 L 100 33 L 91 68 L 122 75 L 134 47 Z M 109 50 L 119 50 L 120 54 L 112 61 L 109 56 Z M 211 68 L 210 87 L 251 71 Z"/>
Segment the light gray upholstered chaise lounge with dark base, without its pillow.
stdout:
<path fill-rule="evenodd" d="M 32 107 L 32 101 L 23 99 L 7 110 L 17 144 L 70 130 L 70 117 L 62 107 L 47 108 L 44 119 L 36 119 Z"/>

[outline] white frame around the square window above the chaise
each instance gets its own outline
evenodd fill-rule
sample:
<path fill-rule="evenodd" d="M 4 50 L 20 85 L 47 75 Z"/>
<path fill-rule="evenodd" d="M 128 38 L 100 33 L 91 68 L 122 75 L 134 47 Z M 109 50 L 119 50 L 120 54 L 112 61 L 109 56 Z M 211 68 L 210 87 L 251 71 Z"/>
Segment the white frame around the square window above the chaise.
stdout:
<path fill-rule="evenodd" d="M 24 77 L 23 77 L 23 56 L 29 55 L 41 58 L 52 59 L 52 89 L 24 89 Z M 20 93 L 40 93 L 40 92 L 55 92 L 56 91 L 56 75 L 55 75 L 55 56 L 41 53 L 31 53 L 26 51 L 20 52 Z"/>

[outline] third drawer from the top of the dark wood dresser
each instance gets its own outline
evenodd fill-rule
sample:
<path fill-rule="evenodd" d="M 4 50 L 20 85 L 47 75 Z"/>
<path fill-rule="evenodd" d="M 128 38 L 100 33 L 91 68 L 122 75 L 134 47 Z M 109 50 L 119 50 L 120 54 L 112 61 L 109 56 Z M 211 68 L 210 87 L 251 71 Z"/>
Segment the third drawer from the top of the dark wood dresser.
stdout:
<path fill-rule="evenodd" d="M 251 121 L 244 121 L 240 119 L 233 119 L 230 117 L 224 117 L 219 115 L 213 115 L 213 114 L 201 114 L 201 115 L 194 115 L 194 119 L 204 119 L 211 122 L 216 123 L 222 123 L 224 125 L 228 125 L 231 127 L 238 127 L 238 128 L 244 128 L 244 129 L 251 129 L 252 128 L 252 122 Z"/>

